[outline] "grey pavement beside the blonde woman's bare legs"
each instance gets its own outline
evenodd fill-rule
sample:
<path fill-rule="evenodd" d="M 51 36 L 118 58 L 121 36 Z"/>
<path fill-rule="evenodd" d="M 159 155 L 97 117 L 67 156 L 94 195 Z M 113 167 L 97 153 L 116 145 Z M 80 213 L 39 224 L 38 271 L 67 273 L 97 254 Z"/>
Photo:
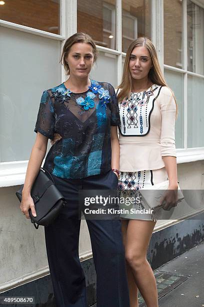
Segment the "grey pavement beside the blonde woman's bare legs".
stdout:
<path fill-rule="evenodd" d="M 159 307 L 204 306 L 204 243 L 154 271 Z M 145 306 L 139 295 L 139 307 Z"/>

